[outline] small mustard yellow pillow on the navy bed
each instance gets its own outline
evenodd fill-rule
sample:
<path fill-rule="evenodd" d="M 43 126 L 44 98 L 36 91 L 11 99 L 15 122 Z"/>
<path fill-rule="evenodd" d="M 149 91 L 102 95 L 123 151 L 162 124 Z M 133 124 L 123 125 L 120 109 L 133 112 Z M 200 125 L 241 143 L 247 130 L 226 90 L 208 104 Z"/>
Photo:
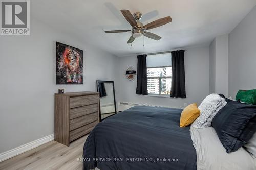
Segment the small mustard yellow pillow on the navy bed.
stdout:
<path fill-rule="evenodd" d="M 200 110 L 197 104 L 193 103 L 185 107 L 180 115 L 180 127 L 186 127 L 193 123 L 200 115 Z"/>

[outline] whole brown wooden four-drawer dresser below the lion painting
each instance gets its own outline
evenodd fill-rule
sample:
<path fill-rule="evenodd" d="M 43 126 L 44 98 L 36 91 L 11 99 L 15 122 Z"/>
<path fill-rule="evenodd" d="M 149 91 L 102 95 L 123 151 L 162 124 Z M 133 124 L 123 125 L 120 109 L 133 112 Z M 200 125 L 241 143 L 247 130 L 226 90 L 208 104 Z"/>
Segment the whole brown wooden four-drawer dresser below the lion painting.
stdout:
<path fill-rule="evenodd" d="M 69 143 L 91 132 L 99 123 L 99 93 L 55 94 L 54 140 Z"/>

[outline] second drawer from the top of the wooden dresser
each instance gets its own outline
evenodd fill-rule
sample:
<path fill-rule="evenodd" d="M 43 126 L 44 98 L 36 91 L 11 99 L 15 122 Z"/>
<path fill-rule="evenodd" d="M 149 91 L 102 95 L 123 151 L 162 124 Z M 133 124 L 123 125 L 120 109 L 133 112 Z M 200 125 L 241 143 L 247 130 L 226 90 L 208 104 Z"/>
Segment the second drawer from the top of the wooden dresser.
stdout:
<path fill-rule="evenodd" d="M 87 106 L 81 106 L 70 109 L 69 119 L 77 118 L 80 116 L 84 116 L 90 113 L 95 113 L 98 111 L 98 104 L 92 104 Z"/>

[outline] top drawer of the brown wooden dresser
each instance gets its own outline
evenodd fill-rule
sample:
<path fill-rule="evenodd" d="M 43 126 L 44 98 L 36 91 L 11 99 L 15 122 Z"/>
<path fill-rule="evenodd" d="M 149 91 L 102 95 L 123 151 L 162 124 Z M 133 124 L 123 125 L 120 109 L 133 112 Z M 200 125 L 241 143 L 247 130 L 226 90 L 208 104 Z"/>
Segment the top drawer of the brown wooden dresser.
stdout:
<path fill-rule="evenodd" d="M 70 108 L 98 103 L 98 95 L 84 95 L 70 98 Z"/>

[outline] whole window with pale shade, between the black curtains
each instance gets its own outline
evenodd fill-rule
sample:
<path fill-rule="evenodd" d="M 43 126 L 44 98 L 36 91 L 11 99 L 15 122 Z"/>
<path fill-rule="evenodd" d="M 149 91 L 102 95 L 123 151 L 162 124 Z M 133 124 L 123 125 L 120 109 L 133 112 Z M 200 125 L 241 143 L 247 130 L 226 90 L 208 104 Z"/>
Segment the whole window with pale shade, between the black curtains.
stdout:
<path fill-rule="evenodd" d="M 148 94 L 169 95 L 172 85 L 171 54 L 147 56 Z"/>

